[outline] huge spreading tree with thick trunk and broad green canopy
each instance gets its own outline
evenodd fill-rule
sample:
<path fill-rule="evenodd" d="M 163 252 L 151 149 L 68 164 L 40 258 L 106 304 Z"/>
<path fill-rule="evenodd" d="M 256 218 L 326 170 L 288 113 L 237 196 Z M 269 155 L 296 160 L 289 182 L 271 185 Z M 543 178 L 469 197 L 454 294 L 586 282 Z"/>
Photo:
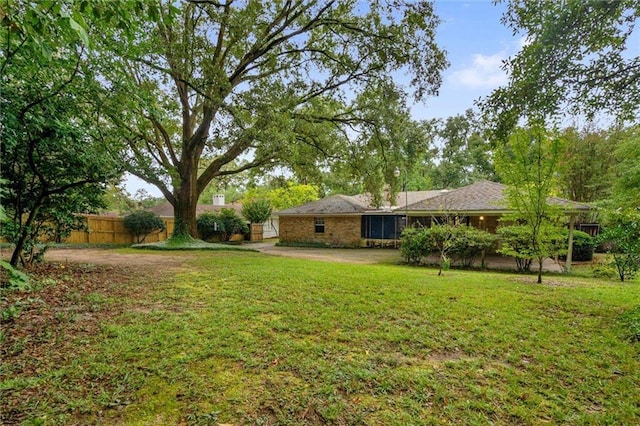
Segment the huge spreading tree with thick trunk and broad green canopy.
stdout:
<path fill-rule="evenodd" d="M 412 76 L 418 99 L 437 93 L 446 66 L 437 23 L 426 1 L 162 2 L 135 38 L 105 32 L 103 108 L 129 171 L 174 206 L 175 234 L 196 235 L 198 196 L 213 179 L 286 164 L 301 144 L 348 153 L 346 141 L 317 135 L 327 123 L 362 133 L 371 124 L 362 105 L 402 91 L 392 72 Z M 372 135 L 360 149 L 386 154 L 388 139 Z M 203 155 L 212 161 L 198 172 Z M 249 160 L 225 168 L 238 158 Z"/>

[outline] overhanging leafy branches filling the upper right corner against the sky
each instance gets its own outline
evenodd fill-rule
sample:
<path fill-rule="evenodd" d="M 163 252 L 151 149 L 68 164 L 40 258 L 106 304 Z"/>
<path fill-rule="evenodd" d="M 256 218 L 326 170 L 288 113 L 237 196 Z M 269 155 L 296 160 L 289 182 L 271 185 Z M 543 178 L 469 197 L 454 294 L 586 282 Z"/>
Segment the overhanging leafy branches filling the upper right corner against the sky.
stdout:
<path fill-rule="evenodd" d="M 640 57 L 633 30 L 636 0 L 509 0 L 503 22 L 526 36 L 505 68 L 507 87 L 485 111 L 508 135 L 521 117 L 552 117 L 562 108 L 593 116 L 607 111 L 633 118 L 640 108 Z"/>

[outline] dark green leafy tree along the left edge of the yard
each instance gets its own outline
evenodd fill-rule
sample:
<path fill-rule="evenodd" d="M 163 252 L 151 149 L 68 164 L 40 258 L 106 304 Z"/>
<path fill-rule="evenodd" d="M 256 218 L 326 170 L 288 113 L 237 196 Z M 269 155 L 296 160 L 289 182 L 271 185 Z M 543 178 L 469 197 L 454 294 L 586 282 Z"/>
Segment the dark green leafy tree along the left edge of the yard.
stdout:
<path fill-rule="evenodd" d="M 128 10 L 104 0 L 3 2 L 0 171 L 14 266 L 42 254 L 41 237 L 59 239 L 78 225 L 73 213 L 100 207 L 104 183 L 118 173 L 93 108 L 87 18 L 104 13 L 103 25 L 124 25 Z"/>

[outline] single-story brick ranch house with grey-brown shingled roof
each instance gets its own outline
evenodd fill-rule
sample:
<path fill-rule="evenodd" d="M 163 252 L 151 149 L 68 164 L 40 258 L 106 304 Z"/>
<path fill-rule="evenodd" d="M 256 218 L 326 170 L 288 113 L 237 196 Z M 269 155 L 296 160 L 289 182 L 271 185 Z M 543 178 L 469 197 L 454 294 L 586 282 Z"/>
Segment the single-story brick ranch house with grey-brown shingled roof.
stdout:
<path fill-rule="evenodd" d="M 505 207 L 505 186 L 486 180 L 454 190 L 408 191 L 397 195 L 393 206 L 373 207 L 371 197 L 334 195 L 298 207 L 280 210 L 280 241 L 324 243 L 343 247 L 396 246 L 407 224 L 430 226 L 453 216 L 470 226 L 495 232 Z M 570 218 L 590 207 L 552 197 Z"/>

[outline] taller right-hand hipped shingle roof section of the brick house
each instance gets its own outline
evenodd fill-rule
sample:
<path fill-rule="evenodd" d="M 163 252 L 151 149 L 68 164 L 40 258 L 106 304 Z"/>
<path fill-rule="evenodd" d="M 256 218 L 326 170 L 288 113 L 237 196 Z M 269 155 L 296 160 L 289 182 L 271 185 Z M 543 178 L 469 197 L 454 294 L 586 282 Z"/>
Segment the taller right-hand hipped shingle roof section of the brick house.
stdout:
<path fill-rule="evenodd" d="M 508 211 L 504 195 L 505 185 L 487 180 L 480 180 L 471 185 L 451 191 L 442 191 L 437 197 L 410 204 L 407 210 L 411 212 L 496 212 Z M 561 206 L 565 211 L 587 211 L 586 204 L 550 197 L 549 204 Z"/>

